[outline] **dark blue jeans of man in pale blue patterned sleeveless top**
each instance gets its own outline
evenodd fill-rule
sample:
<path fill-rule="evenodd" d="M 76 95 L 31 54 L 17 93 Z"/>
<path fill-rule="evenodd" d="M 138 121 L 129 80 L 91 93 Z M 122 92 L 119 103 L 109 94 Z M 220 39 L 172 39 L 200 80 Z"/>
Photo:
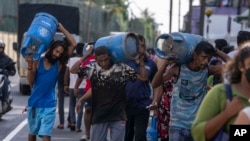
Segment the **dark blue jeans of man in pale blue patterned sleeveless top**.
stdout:
<path fill-rule="evenodd" d="M 169 141 L 194 141 L 191 129 L 169 127 Z"/>

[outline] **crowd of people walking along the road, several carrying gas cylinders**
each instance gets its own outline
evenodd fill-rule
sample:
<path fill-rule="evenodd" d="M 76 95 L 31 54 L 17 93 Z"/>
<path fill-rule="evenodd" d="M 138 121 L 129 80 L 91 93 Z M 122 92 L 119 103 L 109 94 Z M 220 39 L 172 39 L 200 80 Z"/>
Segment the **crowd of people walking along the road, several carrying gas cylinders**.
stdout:
<path fill-rule="evenodd" d="M 29 141 L 36 140 L 36 136 L 51 140 L 57 104 L 57 128 L 64 128 L 65 93 L 70 96 L 71 130 L 82 131 L 84 105 L 85 112 L 87 107 L 90 109 L 84 113 L 86 133 L 81 141 L 106 141 L 108 132 L 112 141 L 146 141 L 150 110 L 158 117 L 161 141 L 211 140 L 220 129 L 229 133 L 230 124 L 242 124 L 250 115 L 249 108 L 243 110 L 250 106 L 250 32 L 239 32 L 238 49 L 233 55 L 223 51 L 229 47 L 223 39 L 216 40 L 215 47 L 200 41 L 191 60 L 180 64 L 176 58 L 167 60 L 148 54 L 140 34 L 136 34 L 139 57 L 117 63 L 106 46 L 89 46 L 83 54 L 84 44 L 77 44 L 62 24 L 58 29 L 68 44 L 53 41 L 38 61 L 26 56 L 32 88 L 27 103 Z M 58 87 L 57 101 L 55 87 L 63 67 L 64 89 Z M 227 101 L 225 82 L 232 90 L 231 101 Z"/>

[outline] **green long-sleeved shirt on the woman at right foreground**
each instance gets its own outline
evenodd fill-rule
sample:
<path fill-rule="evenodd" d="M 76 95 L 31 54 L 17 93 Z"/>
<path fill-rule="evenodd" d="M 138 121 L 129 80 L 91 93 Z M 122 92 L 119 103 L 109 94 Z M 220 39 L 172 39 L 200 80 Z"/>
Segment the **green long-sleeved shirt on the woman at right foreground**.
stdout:
<path fill-rule="evenodd" d="M 243 105 L 250 106 L 248 99 L 243 96 L 237 89 L 232 87 L 233 96 L 237 96 L 240 98 Z M 218 84 L 210 89 L 203 99 L 199 110 L 197 112 L 196 118 L 192 125 L 192 135 L 196 141 L 205 141 L 205 124 L 208 120 L 215 117 L 217 114 L 222 112 L 226 107 L 226 90 L 224 84 Z M 229 133 L 230 124 L 232 124 L 237 115 L 232 117 L 226 123 L 226 132 Z"/>

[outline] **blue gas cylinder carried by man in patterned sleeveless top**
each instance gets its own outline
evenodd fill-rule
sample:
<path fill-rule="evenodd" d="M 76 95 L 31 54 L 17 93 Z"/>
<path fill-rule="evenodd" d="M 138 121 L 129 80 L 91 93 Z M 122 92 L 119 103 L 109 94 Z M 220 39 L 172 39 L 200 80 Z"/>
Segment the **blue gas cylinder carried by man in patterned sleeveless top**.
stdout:
<path fill-rule="evenodd" d="M 177 58 L 178 63 L 187 63 L 193 55 L 196 45 L 205 40 L 196 34 L 174 32 L 160 35 L 154 44 L 156 55 L 162 59 Z"/>

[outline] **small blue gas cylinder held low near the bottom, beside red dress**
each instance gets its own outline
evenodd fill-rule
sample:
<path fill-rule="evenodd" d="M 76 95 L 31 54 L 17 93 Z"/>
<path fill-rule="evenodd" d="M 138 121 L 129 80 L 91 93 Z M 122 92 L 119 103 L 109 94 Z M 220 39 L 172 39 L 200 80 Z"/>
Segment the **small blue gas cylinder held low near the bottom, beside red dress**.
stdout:
<path fill-rule="evenodd" d="M 157 118 L 156 116 L 151 116 L 151 126 L 147 128 L 147 141 L 157 141 L 158 133 L 156 129 Z"/>

